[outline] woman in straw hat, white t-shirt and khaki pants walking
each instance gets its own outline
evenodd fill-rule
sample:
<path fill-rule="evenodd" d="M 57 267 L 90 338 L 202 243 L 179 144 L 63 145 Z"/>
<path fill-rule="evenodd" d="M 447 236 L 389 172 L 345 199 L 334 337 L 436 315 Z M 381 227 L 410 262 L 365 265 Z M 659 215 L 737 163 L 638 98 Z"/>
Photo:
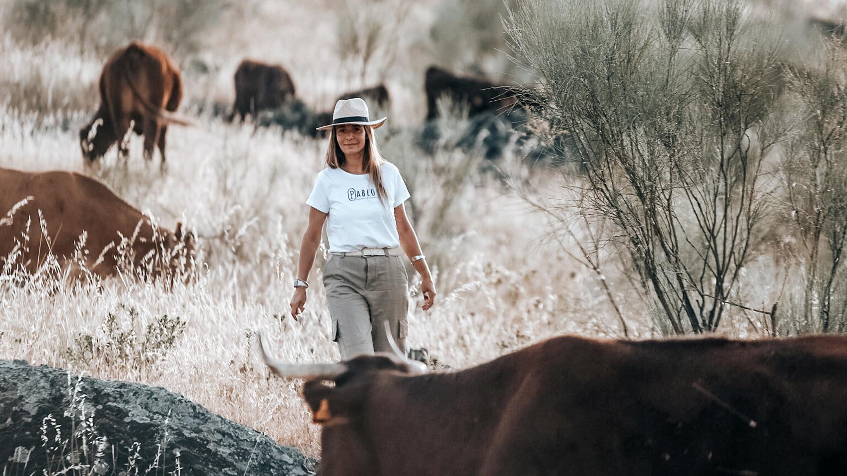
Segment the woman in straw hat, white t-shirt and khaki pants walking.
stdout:
<path fill-rule="evenodd" d="M 408 276 L 401 248 L 423 278 L 426 310 L 435 302 L 435 286 L 418 237 L 406 216 L 409 198 L 400 171 L 379 155 L 374 129 L 361 98 L 335 104 L 326 168 L 318 173 L 306 201 L 309 223 L 300 246 L 300 261 L 291 316 L 306 304 L 321 229 L 327 222 L 331 256 L 324 268 L 324 288 L 332 317 L 332 336 L 341 359 L 360 353 L 390 351 L 385 323 L 397 346 L 406 352 Z"/>

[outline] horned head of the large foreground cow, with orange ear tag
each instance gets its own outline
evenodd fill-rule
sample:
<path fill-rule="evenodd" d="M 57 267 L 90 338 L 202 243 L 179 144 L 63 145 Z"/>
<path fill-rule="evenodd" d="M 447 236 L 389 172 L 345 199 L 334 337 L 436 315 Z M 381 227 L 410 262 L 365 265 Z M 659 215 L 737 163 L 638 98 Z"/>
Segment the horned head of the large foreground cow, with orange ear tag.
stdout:
<path fill-rule="evenodd" d="M 390 342 L 391 334 L 388 334 Z M 396 345 L 393 345 L 395 347 Z M 306 379 L 303 397 L 312 411 L 314 423 L 324 427 L 346 424 L 363 408 L 368 388 L 381 375 L 419 375 L 426 365 L 401 353 L 360 355 L 336 364 L 283 364 L 268 357 L 261 334 L 259 348 L 265 364 L 276 375 Z M 332 382 L 329 385 L 328 382 Z"/>

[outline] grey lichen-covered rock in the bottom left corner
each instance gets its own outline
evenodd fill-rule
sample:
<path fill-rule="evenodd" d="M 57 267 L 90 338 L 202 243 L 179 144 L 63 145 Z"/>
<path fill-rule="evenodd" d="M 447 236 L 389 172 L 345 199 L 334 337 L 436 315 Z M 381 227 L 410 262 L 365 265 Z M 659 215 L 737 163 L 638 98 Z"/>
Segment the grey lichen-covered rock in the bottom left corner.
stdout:
<path fill-rule="evenodd" d="M 0 360 L 7 474 L 307 475 L 314 461 L 162 387 Z"/>

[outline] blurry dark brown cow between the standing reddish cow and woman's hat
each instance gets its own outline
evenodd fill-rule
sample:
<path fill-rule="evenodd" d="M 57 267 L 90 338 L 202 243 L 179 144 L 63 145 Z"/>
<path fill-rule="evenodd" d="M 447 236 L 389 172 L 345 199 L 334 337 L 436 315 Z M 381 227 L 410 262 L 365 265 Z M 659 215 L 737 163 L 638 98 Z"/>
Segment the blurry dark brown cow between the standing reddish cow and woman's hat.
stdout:
<path fill-rule="evenodd" d="M 276 109 L 294 97 L 294 81 L 279 64 L 268 64 L 252 59 L 241 61 L 235 70 L 235 105 L 230 121 L 235 114 L 241 121 L 247 114 L 266 109 Z"/>

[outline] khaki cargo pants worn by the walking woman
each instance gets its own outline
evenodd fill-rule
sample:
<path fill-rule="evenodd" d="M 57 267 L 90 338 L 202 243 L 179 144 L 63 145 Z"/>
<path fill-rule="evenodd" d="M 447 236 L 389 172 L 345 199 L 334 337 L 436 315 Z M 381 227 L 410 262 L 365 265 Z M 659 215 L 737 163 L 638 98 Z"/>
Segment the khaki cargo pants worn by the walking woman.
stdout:
<path fill-rule="evenodd" d="M 341 360 L 391 352 L 384 322 L 397 347 L 406 352 L 408 282 L 406 260 L 399 255 L 329 257 L 324 288 Z"/>

